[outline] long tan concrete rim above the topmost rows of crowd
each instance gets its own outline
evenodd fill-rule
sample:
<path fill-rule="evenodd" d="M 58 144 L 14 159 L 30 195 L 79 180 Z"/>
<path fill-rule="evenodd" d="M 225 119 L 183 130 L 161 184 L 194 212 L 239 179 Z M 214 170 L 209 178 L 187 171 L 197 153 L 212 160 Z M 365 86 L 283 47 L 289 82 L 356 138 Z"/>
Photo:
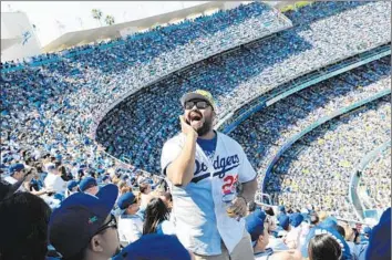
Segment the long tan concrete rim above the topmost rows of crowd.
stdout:
<path fill-rule="evenodd" d="M 228 9 L 228 7 L 234 8 L 233 3 L 234 2 L 226 1 L 209 1 L 207 3 L 141 19 L 137 21 L 124 22 L 75 32 L 68 32 L 45 45 L 42 51 L 55 52 L 92 42 L 100 42 L 110 39 L 114 40 L 122 37 L 123 30 L 128 30 L 131 32 L 146 31 L 155 25 L 164 25 L 167 23 L 179 22 L 185 18 L 189 19 L 199 17 L 200 14 L 207 14 L 212 11 L 215 12 L 219 9 Z M 237 4 L 239 3 L 240 2 L 237 2 Z"/>

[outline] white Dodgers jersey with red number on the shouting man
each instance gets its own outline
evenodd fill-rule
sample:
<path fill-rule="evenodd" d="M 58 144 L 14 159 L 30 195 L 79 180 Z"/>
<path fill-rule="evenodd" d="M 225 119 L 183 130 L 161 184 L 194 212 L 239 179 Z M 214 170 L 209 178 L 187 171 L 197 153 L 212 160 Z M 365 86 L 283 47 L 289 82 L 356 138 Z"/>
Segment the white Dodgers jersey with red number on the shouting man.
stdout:
<path fill-rule="evenodd" d="M 164 174 L 182 152 L 185 138 L 178 134 L 165 143 L 161 158 Z M 223 195 L 230 193 L 237 181 L 255 179 L 256 171 L 241 146 L 221 133 L 217 133 L 213 160 L 196 144 L 195 164 L 194 178 L 187 186 L 176 187 L 167 179 L 173 194 L 176 235 L 186 248 L 198 254 L 220 254 L 220 239 L 233 252 L 243 238 L 245 220 L 228 217 Z"/>

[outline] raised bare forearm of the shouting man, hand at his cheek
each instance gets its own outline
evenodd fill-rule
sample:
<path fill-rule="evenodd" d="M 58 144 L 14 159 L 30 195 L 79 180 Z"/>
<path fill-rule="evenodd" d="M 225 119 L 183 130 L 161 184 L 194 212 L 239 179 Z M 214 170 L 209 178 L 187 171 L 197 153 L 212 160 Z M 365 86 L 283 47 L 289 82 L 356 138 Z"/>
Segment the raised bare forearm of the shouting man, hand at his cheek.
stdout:
<path fill-rule="evenodd" d="M 175 186 L 185 186 L 194 177 L 196 139 L 196 135 L 187 135 L 179 156 L 167 167 L 167 177 Z"/>

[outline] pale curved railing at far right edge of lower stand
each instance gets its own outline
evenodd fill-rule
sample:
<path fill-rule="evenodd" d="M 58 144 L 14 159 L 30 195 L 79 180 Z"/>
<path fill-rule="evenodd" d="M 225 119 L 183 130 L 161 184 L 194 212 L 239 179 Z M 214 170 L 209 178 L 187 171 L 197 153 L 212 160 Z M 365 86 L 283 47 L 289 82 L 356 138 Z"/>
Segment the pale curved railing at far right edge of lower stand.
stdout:
<path fill-rule="evenodd" d="M 357 215 L 361 216 L 363 219 L 364 216 L 364 205 L 358 195 L 358 186 L 361 180 L 362 171 L 369 166 L 369 163 L 375 159 L 380 154 L 382 154 L 388 147 L 391 147 L 391 139 L 386 143 L 380 145 L 379 147 L 371 150 L 367 154 L 360 162 L 359 166 L 352 171 L 350 179 L 350 202 L 354 206 Z"/>

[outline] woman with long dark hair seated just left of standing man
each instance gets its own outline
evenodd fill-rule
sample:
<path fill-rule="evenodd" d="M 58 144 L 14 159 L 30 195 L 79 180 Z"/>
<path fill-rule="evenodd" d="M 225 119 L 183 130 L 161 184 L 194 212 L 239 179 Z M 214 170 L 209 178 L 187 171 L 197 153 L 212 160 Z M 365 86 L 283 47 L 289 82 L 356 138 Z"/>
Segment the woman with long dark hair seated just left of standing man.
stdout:
<path fill-rule="evenodd" d="M 168 219 L 169 211 L 165 202 L 161 198 L 153 198 L 145 210 L 143 235 L 174 235 L 174 226 Z"/>

